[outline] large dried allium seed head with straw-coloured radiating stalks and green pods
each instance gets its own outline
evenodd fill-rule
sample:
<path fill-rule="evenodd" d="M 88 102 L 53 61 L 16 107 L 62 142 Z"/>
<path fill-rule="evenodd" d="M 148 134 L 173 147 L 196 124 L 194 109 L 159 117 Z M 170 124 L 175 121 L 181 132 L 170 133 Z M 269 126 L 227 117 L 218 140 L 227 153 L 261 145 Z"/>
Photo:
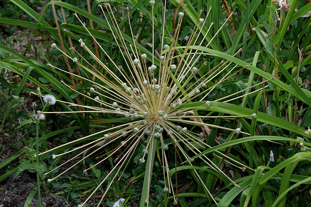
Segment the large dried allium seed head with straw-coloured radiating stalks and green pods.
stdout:
<path fill-rule="evenodd" d="M 155 1 L 151 0 L 151 10 L 152 15 L 154 12 Z M 210 107 L 211 100 L 207 100 L 207 96 L 215 90 L 215 88 L 224 82 L 225 80 L 230 79 L 232 76 L 237 74 L 244 68 L 238 69 L 238 65 L 234 65 L 231 62 L 223 61 L 214 68 L 211 68 L 208 73 L 203 76 L 199 76 L 199 72 L 202 68 L 206 67 L 206 63 L 200 65 L 199 61 L 202 56 L 202 51 L 192 50 L 190 46 L 198 45 L 202 46 L 205 40 L 207 33 L 209 32 L 211 25 L 206 26 L 206 18 L 203 19 L 199 17 L 197 22 L 192 29 L 192 33 L 188 40 L 188 44 L 184 49 L 178 48 L 178 37 L 180 34 L 180 26 L 183 21 L 184 11 L 180 12 L 178 15 L 178 22 L 176 27 L 176 32 L 173 35 L 173 39 L 171 39 L 170 45 L 165 43 L 164 32 L 162 34 L 162 44 L 161 48 L 155 47 L 155 32 L 154 32 L 154 18 L 153 18 L 153 42 L 152 42 L 152 53 L 145 54 L 141 53 L 140 46 L 137 41 L 137 37 L 133 35 L 131 23 L 129 19 L 129 27 L 132 33 L 131 41 L 126 42 L 122 36 L 122 32 L 118 26 L 117 19 L 115 18 L 112 9 L 109 4 L 99 5 L 100 9 L 103 12 L 104 18 L 107 22 L 111 22 L 109 24 L 110 30 L 114 31 L 111 34 L 114 37 L 117 47 L 121 51 L 121 58 L 124 59 L 125 65 L 117 65 L 112 58 L 105 52 L 105 50 L 101 47 L 101 44 L 97 42 L 97 45 L 108 58 L 108 60 L 114 65 L 114 68 L 109 68 L 106 64 L 104 64 L 101 60 L 99 60 L 95 54 L 91 51 L 91 49 L 87 46 L 87 44 L 80 39 L 80 46 L 84 48 L 84 50 L 89 53 L 89 55 L 97 61 L 100 67 L 104 68 L 105 73 L 101 73 L 98 69 L 94 68 L 92 64 L 89 64 L 89 67 L 86 67 L 81 62 L 86 62 L 86 59 L 74 48 L 72 51 L 76 54 L 76 57 L 71 57 L 66 53 L 66 55 L 71 61 L 75 64 L 78 64 L 85 71 L 88 71 L 95 80 L 88 80 L 84 77 L 80 77 L 76 74 L 71 74 L 63 69 L 57 68 L 51 64 L 53 68 L 60 70 L 62 72 L 71 74 L 76 76 L 82 80 L 88 81 L 92 83 L 92 87 L 89 88 L 89 93 L 82 93 L 74 90 L 72 87 L 63 82 L 66 86 L 68 86 L 75 93 L 78 93 L 92 101 L 98 103 L 101 107 L 95 106 L 85 106 L 78 105 L 75 103 L 68 103 L 65 101 L 57 100 L 57 102 L 63 102 L 69 104 L 69 106 L 80 106 L 85 111 L 61 111 L 57 113 L 72 113 L 72 112 L 96 112 L 96 113 L 104 113 L 104 114 L 114 114 L 116 116 L 123 116 L 126 119 L 126 123 L 122 123 L 118 126 L 111 127 L 109 129 L 105 129 L 94 133 L 92 135 L 88 135 L 86 137 L 80 138 L 78 140 L 72 141 L 70 143 L 63 144 L 56 148 L 63 147 L 65 145 L 75 143 L 86 138 L 104 134 L 101 138 L 86 143 L 82 146 L 76 147 L 68 152 L 53 155 L 52 158 L 56 159 L 59 156 L 63 156 L 65 154 L 69 154 L 75 150 L 81 150 L 81 152 L 75 157 L 67 160 L 65 163 L 59 165 L 57 168 L 65 165 L 72 160 L 82 157 L 84 153 L 90 151 L 94 148 L 94 150 L 88 155 L 84 156 L 81 160 L 73 164 L 69 169 L 76 166 L 87 157 L 102 151 L 105 146 L 111 146 L 112 143 L 120 143 L 115 149 L 113 149 L 109 155 L 107 155 L 104 159 L 91 166 L 87 170 L 97 166 L 101 162 L 104 162 L 110 157 L 114 157 L 114 161 L 116 165 L 113 169 L 106 175 L 106 177 L 102 180 L 102 182 L 98 185 L 98 187 L 89 195 L 86 201 L 79 205 L 80 207 L 86 204 L 87 200 L 89 200 L 94 193 L 103 186 L 103 184 L 107 181 L 109 176 L 113 176 L 111 182 L 105 184 L 106 190 L 104 195 L 99 202 L 98 206 L 101 204 L 104 196 L 112 185 L 113 181 L 124 172 L 125 168 L 133 162 L 133 155 L 135 154 L 138 146 L 141 144 L 145 145 L 145 150 L 143 152 L 142 157 L 139 159 L 140 164 L 145 164 L 145 177 L 143 184 L 143 191 L 141 195 L 141 204 L 140 206 L 148 206 L 150 199 L 150 184 L 152 180 L 152 172 L 155 161 L 155 153 L 158 151 L 161 157 L 161 166 L 163 167 L 163 175 L 164 180 L 166 181 L 165 187 L 163 191 L 165 193 L 173 194 L 174 204 L 178 203 L 178 190 L 177 190 L 177 176 L 176 180 L 173 181 L 169 176 L 169 168 L 170 159 L 168 159 L 168 150 L 173 150 L 175 153 L 175 168 L 177 156 L 180 159 L 183 159 L 185 165 L 192 165 L 193 160 L 191 160 L 190 155 L 185 151 L 185 145 L 191 151 L 192 154 L 199 154 L 202 152 L 205 147 L 210 147 L 206 143 L 207 136 L 210 133 L 211 127 L 217 127 L 224 130 L 230 131 L 232 134 L 246 134 L 240 128 L 227 128 L 221 126 L 215 126 L 211 124 L 204 123 L 202 118 L 220 118 L 221 116 L 206 116 L 199 115 L 199 112 L 195 109 L 186 108 L 185 104 L 191 103 L 193 101 L 201 101 L 200 107 Z M 185 9 L 185 7 L 184 7 Z M 107 13 L 104 12 L 107 11 Z M 207 16 L 209 14 L 210 9 L 208 10 Z M 127 9 L 129 14 L 129 9 Z M 202 11 L 200 12 L 201 15 Z M 78 19 L 78 15 L 74 14 Z M 229 16 L 230 17 L 230 16 Z M 229 19 L 229 17 L 227 19 Z M 79 19 L 81 22 L 81 20 Z M 82 23 L 82 22 L 81 22 Z M 83 25 L 83 24 L 82 24 Z M 165 25 L 165 21 L 163 20 L 163 25 Z M 226 21 L 223 26 L 226 25 Z M 222 27 L 223 27 L 222 26 Z M 85 26 L 84 26 L 85 27 Z M 208 28 L 206 34 L 203 34 L 203 28 Z M 220 30 L 222 29 L 220 28 Z M 93 35 L 87 30 L 89 35 L 96 41 Z M 163 26 L 164 30 L 164 26 Z M 216 31 L 215 36 L 219 31 Z M 203 36 L 203 40 L 198 43 L 198 37 Z M 214 37 L 215 37 L 214 36 Z M 214 38 L 213 37 L 213 38 Z M 211 41 L 210 41 L 211 42 Z M 209 42 L 209 43 L 210 43 Z M 205 45 L 208 47 L 209 43 Z M 57 48 L 56 44 L 52 44 L 52 48 L 58 49 L 62 52 L 61 49 Z M 155 49 L 160 49 L 162 52 L 160 56 L 155 56 Z M 178 59 L 177 59 L 178 58 Z M 156 64 L 159 60 L 159 64 Z M 91 69 L 90 69 L 91 68 Z M 230 70 L 228 68 L 231 68 Z M 115 73 L 114 71 L 118 71 Z M 104 75 L 106 74 L 106 75 Z M 265 80 L 268 81 L 268 80 Z M 260 85 L 262 83 L 258 83 Z M 254 87 L 254 86 L 253 86 Z M 256 93 L 257 91 L 255 91 Z M 254 92 L 251 92 L 254 93 Z M 95 98 L 93 98 L 95 95 Z M 233 96 L 236 94 L 233 94 Z M 243 96 L 247 96 L 249 94 L 245 94 Z M 237 98 L 243 97 L 238 96 Z M 227 97 L 224 97 L 227 98 Z M 222 99 L 218 99 L 220 101 Z M 233 100 L 233 99 L 231 99 Z M 228 100 L 228 101 L 231 101 Z M 54 113 L 43 111 L 43 113 Z M 223 118 L 232 118 L 234 116 L 223 116 Z M 256 119 L 256 114 L 250 114 L 248 118 Z M 201 132 L 196 133 L 192 132 L 191 127 L 199 126 Z M 48 150 L 46 152 L 40 153 L 39 155 L 43 155 L 49 153 L 54 149 Z M 121 154 L 117 152 L 120 152 Z M 249 169 L 243 163 L 236 162 L 233 159 L 230 159 L 225 154 L 216 151 L 215 156 L 225 157 L 226 162 L 232 163 L 234 166 L 237 166 L 240 169 L 245 171 L 246 168 Z M 225 173 L 217 167 L 207 156 L 203 155 L 199 157 L 203 162 L 205 162 L 210 168 L 214 169 L 216 172 Z M 55 169 L 57 169 L 55 168 Z M 53 169 L 53 170 L 55 170 Z M 56 177 L 49 179 L 48 182 L 52 182 L 60 175 L 66 173 L 69 169 L 63 171 L 61 174 Z M 53 171 L 52 170 L 52 171 Z M 175 169 L 176 170 L 176 169 Z M 252 170 L 252 169 L 250 169 Z M 52 172 L 51 171 L 51 172 Z M 207 187 L 204 185 L 199 173 L 196 170 L 192 170 L 193 174 L 200 180 L 205 191 L 208 192 L 210 198 L 213 200 L 215 204 L 217 202 L 214 200 L 211 192 L 208 191 Z M 47 174 L 51 173 L 48 172 Z M 47 175 L 46 174 L 46 175 Z M 177 175 L 177 172 L 176 172 Z M 232 183 L 234 181 L 225 175 Z M 176 188 L 173 188 L 173 183 L 175 182 Z M 236 183 L 234 183 L 238 186 Z"/>

